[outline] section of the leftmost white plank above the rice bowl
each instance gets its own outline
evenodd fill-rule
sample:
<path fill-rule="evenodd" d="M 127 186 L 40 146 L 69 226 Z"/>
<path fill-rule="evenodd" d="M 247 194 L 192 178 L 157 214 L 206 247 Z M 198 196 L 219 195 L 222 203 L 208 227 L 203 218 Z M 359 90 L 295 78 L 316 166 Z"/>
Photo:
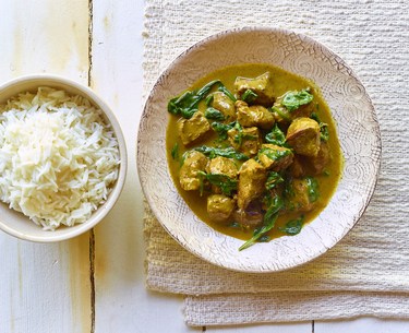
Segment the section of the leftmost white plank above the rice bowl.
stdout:
<path fill-rule="evenodd" d="M 1 12 L 1 81 L 51 72 L 87 82 L 87 0 L 2 0 Z"/>

